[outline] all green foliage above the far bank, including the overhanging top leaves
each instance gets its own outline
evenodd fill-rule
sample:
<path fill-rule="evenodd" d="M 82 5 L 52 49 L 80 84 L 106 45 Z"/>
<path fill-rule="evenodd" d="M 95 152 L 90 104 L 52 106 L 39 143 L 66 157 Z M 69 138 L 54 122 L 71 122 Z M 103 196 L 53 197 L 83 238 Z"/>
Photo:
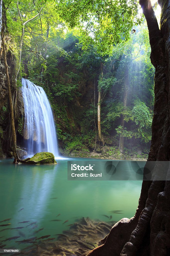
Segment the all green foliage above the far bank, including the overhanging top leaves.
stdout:
<path fill-rule="evenodd" d="M 7 49 L 18 60 L 21 20 L 16 1 L 5 0 L 4 4 L 9 32 Z M 154 68 L 149 58 L 146 22 L 137 26 L 141 22 L 137 3 L 126 0 L 23 0 L 19 2 L 23 22 L 34 17 L 42 6 L 40 16 L 25 27 L 20 77 L 28 77 L 44 88 L 62 146 L 68 150 L 82 147 L 88 151 L 85 146 L 94 144 L 97 91 L 100 90 L 103 135 L 117 138 L 121 135 L 126 141 L 140 138 L 149 142 Z M 124 107 L 126 70 L 128 97 Z M 21 86 L 20 79 L 17 86 Z M 120 126 L 122 116 L 124 127 Z M 21 134 L 20 119 L 18 123 Z M 110 149 L 109 155 L 112 153 L 119 154 L 116 146 Z"/>

